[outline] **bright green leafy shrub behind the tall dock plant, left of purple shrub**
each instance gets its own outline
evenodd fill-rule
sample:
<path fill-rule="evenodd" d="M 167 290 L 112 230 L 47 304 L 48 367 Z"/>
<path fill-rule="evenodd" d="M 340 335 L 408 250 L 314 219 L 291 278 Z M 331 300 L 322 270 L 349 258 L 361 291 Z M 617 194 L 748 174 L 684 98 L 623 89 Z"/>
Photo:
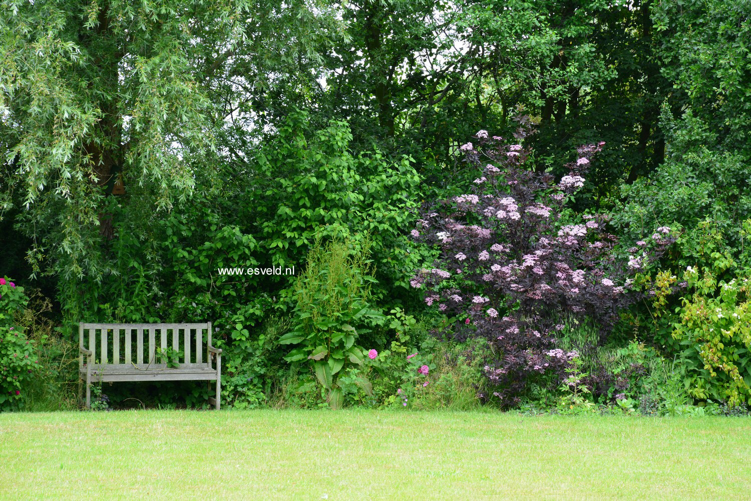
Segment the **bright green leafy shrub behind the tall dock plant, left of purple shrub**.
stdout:
<path fill-rule="evenodd" d="M 254 217 L 260 245 L 273 252 L 270 264 L 300 262 L 316 236 L 362 246 L 367 234 L 379 282 L 408 288 L 410 265 L 418 258 L 406 239 L 420 181 L 412 160 L 394 161 L 378 150 L 354 155 L 345 122 L 331 121 L 318 131 L 308 122 L 307 113 L 289 116 L 257 156 L 258 186 L 249 195 L 262 194 L 265 201 Z M 375 285 L 373 293 L 381 299 L 391 291 Z"/>

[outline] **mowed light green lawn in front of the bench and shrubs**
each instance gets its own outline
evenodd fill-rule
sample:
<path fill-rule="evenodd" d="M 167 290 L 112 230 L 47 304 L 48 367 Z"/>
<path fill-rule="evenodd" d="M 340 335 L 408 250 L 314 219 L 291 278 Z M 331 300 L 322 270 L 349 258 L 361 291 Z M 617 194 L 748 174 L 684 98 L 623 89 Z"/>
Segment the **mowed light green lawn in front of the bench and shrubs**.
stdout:
<path fill-rule="evenodd" d="M 3 499 L 751 499 L 751 419 L 0 415 Z"/>

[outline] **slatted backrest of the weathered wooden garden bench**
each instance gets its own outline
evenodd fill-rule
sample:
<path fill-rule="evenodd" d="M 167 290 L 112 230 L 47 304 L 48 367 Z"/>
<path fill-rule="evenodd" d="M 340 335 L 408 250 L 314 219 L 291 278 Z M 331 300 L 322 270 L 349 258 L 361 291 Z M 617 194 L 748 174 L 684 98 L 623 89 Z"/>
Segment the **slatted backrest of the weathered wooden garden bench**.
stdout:
<path fill-rule="evenodd" d="M 94 364 L 167 364 L 164 352 L 182 352 L 173 362 L 211 367 L 211 322 L 205 324 L 86 324 L 78 327 L 79 346 Z M 161 351 L 160 351 L 161 349 Z M 83 358 L 80 359 L 83 365 Z"/>

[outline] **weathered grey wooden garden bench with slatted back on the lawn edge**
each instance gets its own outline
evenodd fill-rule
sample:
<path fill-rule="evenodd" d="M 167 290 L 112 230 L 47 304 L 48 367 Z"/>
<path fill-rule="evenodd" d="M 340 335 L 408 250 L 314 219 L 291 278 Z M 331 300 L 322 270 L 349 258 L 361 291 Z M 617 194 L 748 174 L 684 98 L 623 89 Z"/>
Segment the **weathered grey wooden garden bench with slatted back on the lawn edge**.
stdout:
<path fill-rule="evenodd" d="M 211 346 L 211 322 L 80 323 L 78 346 L 80 379 L 86 379 L 87 408 L 91 407 L 92 382 L 216 380 L 216 397 L 210 397 L 209 403 L 219 409 L 222 350 Z"/>

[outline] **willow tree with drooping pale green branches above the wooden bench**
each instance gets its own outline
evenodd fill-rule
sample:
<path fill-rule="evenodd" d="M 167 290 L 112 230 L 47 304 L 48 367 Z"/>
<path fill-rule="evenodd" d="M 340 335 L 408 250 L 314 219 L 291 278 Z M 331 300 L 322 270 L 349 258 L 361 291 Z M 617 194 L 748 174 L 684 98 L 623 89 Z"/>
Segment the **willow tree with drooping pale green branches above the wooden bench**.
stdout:
<path fill-rule="evenodd" d="M 335 25 L 307 0 L 4 0 L 0 10 L 0 209 L 34 238 L 35 273 L 61 282 L 116 273 L 113 207 L 140 213 L 147 231 L 189 197 L 226 150 L 216 138 L 246 99 L 238 82 L 263 88 L 264 68 L 315 59 Z"/>

